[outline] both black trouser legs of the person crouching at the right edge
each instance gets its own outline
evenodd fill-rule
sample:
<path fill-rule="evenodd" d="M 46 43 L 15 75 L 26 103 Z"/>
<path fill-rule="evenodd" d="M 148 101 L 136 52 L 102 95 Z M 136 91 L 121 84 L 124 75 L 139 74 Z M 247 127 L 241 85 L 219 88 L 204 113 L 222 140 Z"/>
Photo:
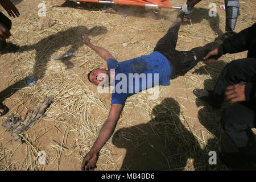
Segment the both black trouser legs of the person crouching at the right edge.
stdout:
<path fill-rule="evenodd" d="M 221 72 L 212 92 L 216 105 L 224 102 L 225 88 L 240 82 L 255 82 L 256 59 L 245 58 L 230 62 Z M 224 130 L 245 158 L 256 162 L 256 144 L 251 128 L 256 125 L 256 104 L 253 101 L 233 104 L 221 116 Z"/>

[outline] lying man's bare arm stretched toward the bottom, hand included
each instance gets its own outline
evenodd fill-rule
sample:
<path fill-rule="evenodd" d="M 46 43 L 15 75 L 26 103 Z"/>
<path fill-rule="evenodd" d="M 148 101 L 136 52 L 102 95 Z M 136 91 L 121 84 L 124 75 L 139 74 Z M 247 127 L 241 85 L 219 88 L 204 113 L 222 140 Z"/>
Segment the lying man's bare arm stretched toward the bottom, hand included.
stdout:
<path fill-rule="evenodd" d="M 109 117 L 102 126 L 96 142 L 93 144 L 93 147 L 90 149 L 88 154 L 85 155 L 84 160 L 82 161 L 81 170 L 91 171 L 96 168 L 100 150 L 113 134 L 122 109 L 123 105 L 121 104 L 112 105 Z"/>

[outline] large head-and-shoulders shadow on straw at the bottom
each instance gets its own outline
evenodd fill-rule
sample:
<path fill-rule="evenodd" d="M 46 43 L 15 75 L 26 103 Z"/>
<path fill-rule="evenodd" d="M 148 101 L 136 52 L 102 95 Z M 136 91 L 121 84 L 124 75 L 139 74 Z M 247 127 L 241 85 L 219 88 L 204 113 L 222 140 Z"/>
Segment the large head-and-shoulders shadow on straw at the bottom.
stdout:
<path fill-rule="evenodd" d="M 121 170 L 213 169 L 208 151 L 201 149 L 193 133 L 181 123 L 180 106 L 174 98 L 165 98 L 155 106 L 151 118 L 113 135 L 114 146 L 126 149 Z"/>

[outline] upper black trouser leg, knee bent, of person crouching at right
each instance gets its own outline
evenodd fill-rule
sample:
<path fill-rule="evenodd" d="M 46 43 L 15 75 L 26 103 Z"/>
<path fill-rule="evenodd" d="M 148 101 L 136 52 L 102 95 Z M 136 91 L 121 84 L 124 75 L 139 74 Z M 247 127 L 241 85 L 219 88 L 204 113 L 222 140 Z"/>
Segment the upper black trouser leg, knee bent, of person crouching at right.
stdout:
<path fill-rule="evenodd" d="M 228 63 L 214 86 L 211 99 L 214 104 L 221 106 L 225 98 L 227 86 L 236 85 L 240 82 L 256 81 L 256 59 L 245 58 L 231 61 Z"/>

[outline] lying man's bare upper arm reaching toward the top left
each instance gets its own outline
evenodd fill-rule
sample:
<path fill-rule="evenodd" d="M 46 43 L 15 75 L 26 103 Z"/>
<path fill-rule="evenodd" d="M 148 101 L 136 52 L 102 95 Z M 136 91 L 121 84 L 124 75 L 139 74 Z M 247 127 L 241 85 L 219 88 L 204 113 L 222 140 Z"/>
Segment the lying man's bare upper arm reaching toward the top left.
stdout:
<path fill-rule="evenodd" d="M 93 49 L 95 52 L 98 53 L 103 59 L 108 60 L 108 59 L 115 59 L 109 51 L 102 47 L 94 46 L 92 43 L 90 43 L 90 39 L 87 36 L 82 36 L 82 42 L 91 49 Z"/>

